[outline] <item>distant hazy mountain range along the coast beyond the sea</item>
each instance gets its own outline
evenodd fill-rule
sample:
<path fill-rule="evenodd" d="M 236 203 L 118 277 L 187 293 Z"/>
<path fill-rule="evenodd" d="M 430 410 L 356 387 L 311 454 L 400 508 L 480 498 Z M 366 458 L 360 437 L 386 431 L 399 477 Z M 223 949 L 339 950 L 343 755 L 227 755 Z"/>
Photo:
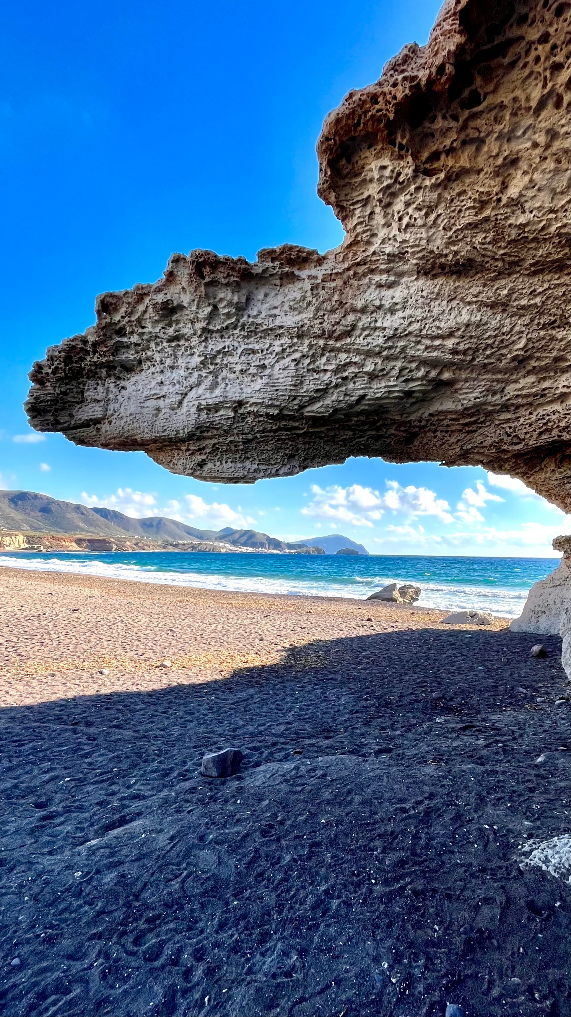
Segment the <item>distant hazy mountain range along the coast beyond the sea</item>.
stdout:
<path fill-rule="evenodd" d="M 289 543 L 277 537 L 256 530 L 198 530 L 176 519 L 152 516 L 133 519 L 114 508 L 87 508 L 71 501 L 58 501 L 48 494 L 35 491 L 0 491 L 0 529 L 18 533 L 58 533 L 88 535 L 93 537 L 146 537 L 150 540 L 188 541 L 208 540 L 251 547 L 258 550 L 294 551 L 303 547 L 322 547 L 326 554 L 334 554 L 340 547 L 354 547 L 361 554 L 368 551 L 348 537 L 334 534 L 329 537 L 311 537 L 309 540 Z"/>

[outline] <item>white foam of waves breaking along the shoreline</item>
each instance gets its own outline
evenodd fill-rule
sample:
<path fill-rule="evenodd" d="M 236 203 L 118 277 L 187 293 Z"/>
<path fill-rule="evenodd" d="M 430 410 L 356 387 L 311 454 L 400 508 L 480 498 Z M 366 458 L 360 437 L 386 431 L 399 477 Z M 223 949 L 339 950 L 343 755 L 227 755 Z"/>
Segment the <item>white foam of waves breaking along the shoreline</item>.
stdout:
<path fill-rule="evenodd" d="M 34 572 L 73 573 L 80 576 L 100 576 L 106 579 L 131 580 L 139 583 L 156 583 L 170 586 L 191 586 L 209 590 L 233 590 L 250 593 L 279 593 L 290 596 L 347 597 L 364 600 L 375 590 L 388 583 L 401 582 L 402 577 L 356 577 L 351 582 L 323 578 L 297 578 L 279 576 L 236 576 L 200 572 L 157 572 L 151 564 L 127 564 L 121 561 L 102 561 L 92 558 L 67 558 L 65 555 L 21 558 L 19 555 L 0 555 L 0 565 L 27 569 Z M 523 609 L 527 590 L 502 587 L 468 586 L 422 582 L 419 607 L 436 607 L 456 611 L 466 608 L 490 611 L 492 614 L 517 617 Z"/>

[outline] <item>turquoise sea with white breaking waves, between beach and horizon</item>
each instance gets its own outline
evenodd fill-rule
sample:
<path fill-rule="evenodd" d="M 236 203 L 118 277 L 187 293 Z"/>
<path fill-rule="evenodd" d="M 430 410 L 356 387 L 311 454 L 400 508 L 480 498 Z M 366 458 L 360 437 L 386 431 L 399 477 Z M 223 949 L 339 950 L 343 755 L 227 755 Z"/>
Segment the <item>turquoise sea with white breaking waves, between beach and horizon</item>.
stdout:
<path fill-rule="evenodd" d="M 419 605 L 472 607 L 516 617 L 529 588 L 557 558 L 470 558 L 380 555 L 212 554 L 170 551 L 108 554 L 12 552 L 0 565 L 77 573 L 144 583 L 364 600 L 387 583 L 415 582 Z"/>

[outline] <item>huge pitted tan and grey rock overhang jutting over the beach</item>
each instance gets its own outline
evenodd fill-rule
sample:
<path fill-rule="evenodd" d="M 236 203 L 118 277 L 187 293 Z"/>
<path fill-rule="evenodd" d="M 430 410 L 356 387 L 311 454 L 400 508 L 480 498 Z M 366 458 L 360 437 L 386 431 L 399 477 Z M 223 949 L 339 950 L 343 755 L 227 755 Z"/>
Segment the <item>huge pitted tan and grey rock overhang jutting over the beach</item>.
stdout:
<path fill-rule="evenodd" d="M 325 255 L 174 254 L 48 351 L 40 431 L 254 481 L 382 456 L 569 506 L 569 10 L 455 0 L 325 121 Z"/>

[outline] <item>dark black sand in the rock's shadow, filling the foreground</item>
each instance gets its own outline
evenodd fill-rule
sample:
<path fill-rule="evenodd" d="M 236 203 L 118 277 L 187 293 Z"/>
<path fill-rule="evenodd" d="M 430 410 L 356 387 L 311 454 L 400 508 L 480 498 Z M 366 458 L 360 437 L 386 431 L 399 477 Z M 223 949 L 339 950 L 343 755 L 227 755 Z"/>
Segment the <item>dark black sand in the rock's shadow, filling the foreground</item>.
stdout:
<path fill-rule="evenodd" d="M 3 710 L 0 1012 L 567 1017 L 569 887 L 520 869 L 569 828 L 533 642 L 374 634 Z"/>

